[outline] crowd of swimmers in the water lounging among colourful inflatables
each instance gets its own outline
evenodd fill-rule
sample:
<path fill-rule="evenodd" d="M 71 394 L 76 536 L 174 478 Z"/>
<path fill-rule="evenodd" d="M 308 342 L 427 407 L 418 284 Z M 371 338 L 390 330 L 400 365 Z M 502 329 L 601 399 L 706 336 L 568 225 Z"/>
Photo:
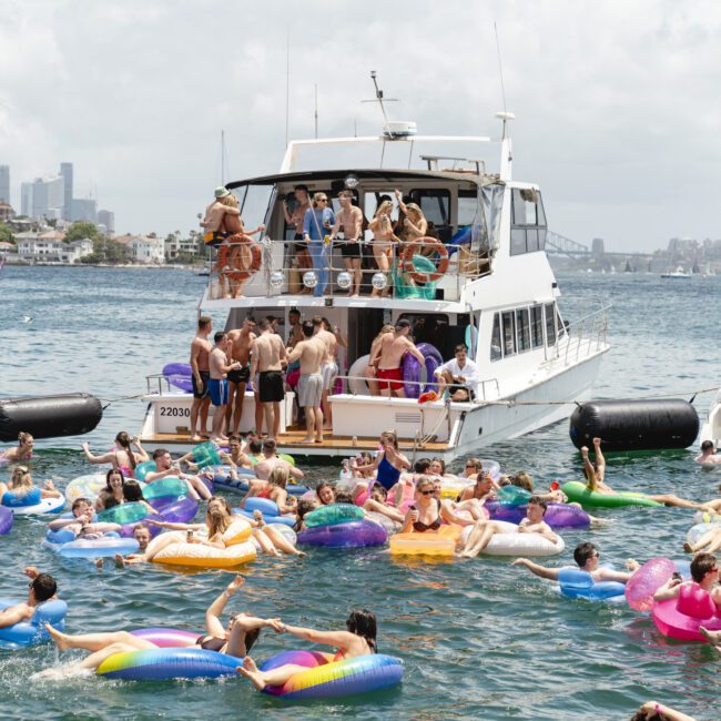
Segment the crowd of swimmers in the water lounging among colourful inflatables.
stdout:
<path fill-rule="evenodd" d="M 30 434 L 20 434 L 18 446 L 6 451 L 4 455 L 13 461 L 10 479 L 2 484 L 0 490 L 13 492 L 29 492 L 34 488 L 32 477 L 26 465 L 32 458 L 33 439 Z M 490 539 L 497 534 L 509 532 L 507 527 L 488 520 L 484 512 L 484 505 L 496 498 L 498 491 L 507 485 L 518 486 L 534 494 L 528 500 L 526 518 L 510 532 L 536 532 L 556 539 L 556 534 L 544 521 L 544 516 L 549 502 L 565 502 L 568 499 L 558 489 L 557 484 L 551 484 L 548 491 L 541 492 L 534 488 L 529 474 L 520 471 L 512 476 L 501 475 L 496 478 L 484 469 L 483 461 L 477 458 L 466 459 L 464 469 L 458 476 L 448 474 L 441 458 L 420 458 L 412 464 L 407 456 L 399 449 L 398 439 L 394 431 L 387 430 L 378 438 L 378 450 L 374 454 L 359 453 L 344 466 L 342 480 L 338 484 L 321 483 L 309 497 L 296 499 L 287 492 L 288 485 L 304 478 L 303 471 L 288 460 L 277 455 L 274 439 L 262 439 L 256 433 L 250 433 L 245 438 L 231 434 L 227 438 L 227 449 L 219 449 L 223 464 L 229 467 L 231 477 L 237 477 L 238 471 L 248 479 L 248 490 L 241 499 L 240 506 L 244 507 L 250 498 L 265 498 L 274 501 L 278 512 L 295 518 L 295 530 L 305 528 L 304 517 L 312 510 L 331 504 L 359 504 L 367 514 L 380 514 L 386 519 L 386 525 L 400 532 L 426 534 L 434 532 L 441 525 L 470 526 L 471 529 L 465 540 L 459 541 L 457 555 L 459 557 L 475 557 L 483 552 Z M 606 480 L 606 459 L 598 438 L 592 443 L 593 460 L 590 450 L 581 449 L 581 460 L 587 478 L 587 487 L 599 494 L 616 494 Z M 697 458 L 699 463 L 712 464 L 709 460 L 714 456 L 715 448 L 705 447 L 702 455 Z M 134 537 L 139 542 L 139 551 L 126 558 L 116 559 L 119 566 L 150 561 L 164 548 L 166 542 L 173 542 L 174 536 L 159 536 L 151 542 L 151 526 L 167 530 L 183 530 L 190 542 L 205 544 L 215 548 L 224 548 L 223 534 L 231 526 L 235 516 L 230 504 L 223 496 L 211 495 L 203 483 L 205 471 L 194 464 L 192 454 L 172 459 L 165 449 L 155 450 L 149 456 L 136 439 L 121 431 L 115 437 L 114 448 L 103 455 L 93 455 L 87 444 L 83 444 L 85 458 L 92 464 L 109 464 L 110 469 L 105 476 L 105 486 L 98 498 L 92 502 L 88 498 L 78 498 L 73 501 L 71 516 L 59 518 L 50 522 L 51 530 L 71 530 L 78 538 L 100 538 L 109 531 L 118 530 L 114 524 L 98 522 L 94 514 L 112 508 L 124 502 L 145 502 L 140 484 L 132 478 L 139 464 L 153 459 L 156 470 L 149 473 L 145 483 L 167 476 L 185 479 L 189 492 L 197 496 L 199 500 L 206 501 L 205 514 L 201 522 L 172 524 L 146 519 L 135 526 Z M 247 475 L 252 471 L 253 475 Z M 447 483 L 465 478 L 473 484 L 467 484 L 455 498 L 443 497 Z M 200 492 L 200 489 L 205 495 Z M 50 484 L 42 489 L 45 494 L 59 494 Z M 363 495 L 363 498 L 360 496 Z M 704 504 L 678 498 L 674 495 L 654 496 L 659 502 L 686 508 L 702 509 L 710 514 L 721 510 L 721 499 Z M 362 501 L 362 502 L 360 502 Z M 408 502 L 410 501 L 410 502 Z M 151 508 L 151 507 L 149 507 Z M 376 516 L 377 518 L 377 516 Z M 295 544 L 285 535 L 274 528 L 267 528 L 262 514 L 256 511 L 248 519 L 252 526 L 253 538 L 262 551 L 268 555 L 290 554 L 302 556 Z M 166 542 L 165 542 L 166 541 Z M 709 593 L 721 615 L 721 586 L 719 586 L 719 565 L 713 551 L 721 548 L 721 530 L 712 530 L 702 536 L 693 546 L 684 545 L 684 550 L 693 552 L 690 572 L 691 581 L 682 581 L 678 575 L 660 587 L 654 595 L 657 601 L 674 598 L 679 595 L 683 583 L 694 582 Z M 593 581 L 616 581 L 626 583 L 631 575 L 639 568 L 638 561 L 629 559 L 626 570 L 618 571 L 600 563 L 599 549 L 591 542 L 583 541 L 573 550 L 576 566 L 590 573 Z M 528 569 L 531 573 L 547 580 L 557 581 L 560 568 L 537 563 L 527 558 L 517 558 L 514 566 Z M 28 599 L 3 611 L 0 611 L 0 628 L 29 620 L 39 603 L 54 598 L 57 583 L 48 573 L 29 567 L 27 576 L 31 579 Z M 251 648 L 256 642 L 261 629 L 267 628 L 276 633 L 291 633 L 311 642 L 326 643 L 338 649 L 336 658 L 353 658 L 376 651 L 376 619 L 373 613 L 360 610 L 351 613 L 346 630 L 321 631 L 288 624 L 281 619 L 262 619 L 248 611 L 231 615 L 230 621 L 224 623 L 221 617 L 225 605 L 242 587 L 243 578 L 237 577 L 209 607 L 205 615 L 205 633 L 197 638 L 196 644 L 204 649 L 212 649 L 235 657 L 245 657 L 245 661 L 237 671 L 246 677 L 256 688 L 266 684 L 276 686 L 284 682 L 290 676 L 299 670 L 299 667 L 287 664 L 271 672 L 258 671 L 252 657 Z M 93 670 L 118 651 L 131 651 L 151 648 L 149 641 L 119 630 L 109 630 L 102 633 L 71 636 L 49 628 L 53 640 L 60 650 L 85 649 L 90 654 L 82 661 L 70 667 L 70 671 Z M 701 633 L 714 647 L 721 649 L 721 632 L 701 628 Z M 154 648 L 154 647 L 153 647 Z M 659 704 L 644 704 L 634 718 L 638 719 L 684 719 L 683 714 L 660 707 Z M 674 715 L 676 714 L 676 715 Z"/>

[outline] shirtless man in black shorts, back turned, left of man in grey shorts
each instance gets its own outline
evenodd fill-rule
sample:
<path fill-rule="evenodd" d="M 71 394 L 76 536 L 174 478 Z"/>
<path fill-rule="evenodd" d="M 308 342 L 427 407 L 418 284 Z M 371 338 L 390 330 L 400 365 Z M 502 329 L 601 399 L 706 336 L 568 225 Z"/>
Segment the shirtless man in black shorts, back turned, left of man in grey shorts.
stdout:
<path fill-rule="evenodd" d="M 263 430 L 263 416 L 265 428 L 273 438 L 278 435 L 281 427 L 281 402 L 285 398 L 283 383 L 283 366 L 286 365 L 285 345 L 283 338 L 276 333 L 267 321 L 258 323 L 261 335 L 251 345 L 252 362 L 251 377 L 258 380 L 255 392 L 255 428 Z"/>

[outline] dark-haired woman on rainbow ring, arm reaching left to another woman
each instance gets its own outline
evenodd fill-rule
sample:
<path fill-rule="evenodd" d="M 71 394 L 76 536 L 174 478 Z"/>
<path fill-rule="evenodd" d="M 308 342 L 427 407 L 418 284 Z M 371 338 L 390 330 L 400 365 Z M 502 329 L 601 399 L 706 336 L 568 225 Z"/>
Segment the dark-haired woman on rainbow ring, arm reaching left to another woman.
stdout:
<path fill-rule="evenodd" d="M 345 631 L 316 631 L 315 629 L 299 626 L 288 626 L 277 620 L 273 628 L 278 633 L 292 633 L 311 643 L 325 643 L 338 649 L 334 661 L 354 659 L 359 656 L 377 653 L 376 646 L 377 623 L 376 617 L 370 611 L 352 611 L 345 622 Z M 253 686 L 262 691 L 266 686 L 283 686 L 294 673 L 306 671 L 304 666 L 285 663 L 270 671 L 258 671 L 255 661 L 246 656 L 243 666 L 237 668 L 238 673 L 248 679 Z"/>

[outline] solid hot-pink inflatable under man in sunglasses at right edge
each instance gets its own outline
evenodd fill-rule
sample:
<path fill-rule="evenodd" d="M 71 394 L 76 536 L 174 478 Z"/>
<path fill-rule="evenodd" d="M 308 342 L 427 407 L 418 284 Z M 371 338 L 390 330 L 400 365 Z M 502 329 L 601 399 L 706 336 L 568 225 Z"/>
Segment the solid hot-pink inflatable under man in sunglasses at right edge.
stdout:
<path fill-rule="evenodd" d="M 721 630 L 719 608 L 698 583 L 683 583 L 678 598 L 653 605 L 651 616 L 656 627 L 663 633 L 681 641 L 704 641 L 699 627 L 711 631 Z"/>

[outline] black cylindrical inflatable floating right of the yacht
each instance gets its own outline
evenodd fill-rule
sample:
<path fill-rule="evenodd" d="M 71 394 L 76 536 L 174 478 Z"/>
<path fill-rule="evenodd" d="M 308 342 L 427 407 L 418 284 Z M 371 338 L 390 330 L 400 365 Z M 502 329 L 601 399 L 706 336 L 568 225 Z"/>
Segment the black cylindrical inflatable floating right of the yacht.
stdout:
<path fill-rule="evenodd" d="M 570 419 L 577 448 L 601 438 L 603 450 L 688 448 L 699 434 L 699 414 L 681 398 L 589 400 Z"/>

